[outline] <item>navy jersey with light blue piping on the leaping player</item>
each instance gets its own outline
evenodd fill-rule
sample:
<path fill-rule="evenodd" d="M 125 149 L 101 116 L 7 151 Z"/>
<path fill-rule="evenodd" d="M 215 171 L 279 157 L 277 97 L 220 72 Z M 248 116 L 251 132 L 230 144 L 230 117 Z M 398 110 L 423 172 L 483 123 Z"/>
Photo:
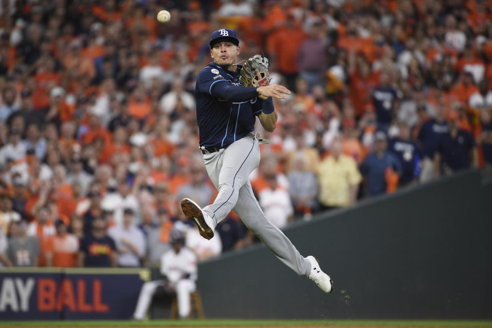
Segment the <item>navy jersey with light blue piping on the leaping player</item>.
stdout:
<path fill-rule="evenodd" d="M 242 87 L 236 72 L 222 69 L 214 61 L 198 73 L 195 86 L 196 120 L 200 146 L 226 148 L 254 130 L 263 103 L 256 88 Z"/>

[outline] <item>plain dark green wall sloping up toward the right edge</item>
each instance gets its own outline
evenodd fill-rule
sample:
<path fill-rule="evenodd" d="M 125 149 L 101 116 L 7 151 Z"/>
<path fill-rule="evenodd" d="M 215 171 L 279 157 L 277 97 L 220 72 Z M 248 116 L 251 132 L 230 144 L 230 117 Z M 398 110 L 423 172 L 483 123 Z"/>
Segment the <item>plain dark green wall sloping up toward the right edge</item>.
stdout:
<path fill-rule="evenodd" d="M 285 230 L 332 275 L 332 294 L 261 244 L 200 265 L 205 314 L 490 319 L 491 222 L 492 183 L 477 171 L 363 200 Z"/>

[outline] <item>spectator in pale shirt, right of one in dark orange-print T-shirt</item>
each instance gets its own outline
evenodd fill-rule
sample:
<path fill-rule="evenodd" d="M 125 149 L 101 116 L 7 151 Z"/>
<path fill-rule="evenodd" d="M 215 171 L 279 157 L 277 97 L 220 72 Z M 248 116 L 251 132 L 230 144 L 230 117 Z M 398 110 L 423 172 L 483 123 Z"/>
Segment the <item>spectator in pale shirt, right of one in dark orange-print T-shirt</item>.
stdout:
<path fill-rule="evenodd" d="M 140 259 L 145 255 L 145 235 L 132 223 L 133 215 L 132 209 L 125 209 L 122 224 L 108 230 L 108 235 L 116 244 L 120 267 L 140 267 Z"/>

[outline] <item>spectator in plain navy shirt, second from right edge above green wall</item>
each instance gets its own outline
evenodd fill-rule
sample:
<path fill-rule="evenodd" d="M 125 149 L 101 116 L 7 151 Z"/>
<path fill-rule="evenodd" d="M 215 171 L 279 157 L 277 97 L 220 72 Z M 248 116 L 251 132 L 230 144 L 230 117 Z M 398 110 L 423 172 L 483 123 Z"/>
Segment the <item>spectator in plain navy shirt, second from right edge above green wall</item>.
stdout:
<path fill-rule="evenodd" d="M 435 154 L 436 174 L 452 174 L 478 167 L 478 151 L 473 135 L 458 128 L 458 115 L 449 120 L 449 132 L 441 139 Z"/>

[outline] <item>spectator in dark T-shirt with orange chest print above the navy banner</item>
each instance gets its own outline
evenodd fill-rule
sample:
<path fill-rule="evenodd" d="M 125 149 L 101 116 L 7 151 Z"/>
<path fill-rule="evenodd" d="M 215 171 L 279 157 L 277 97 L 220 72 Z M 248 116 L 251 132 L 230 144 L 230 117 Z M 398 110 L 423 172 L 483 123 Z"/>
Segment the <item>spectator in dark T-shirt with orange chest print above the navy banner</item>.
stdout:
<path fill-rule="evenodd" d="M 113 238 L 109 237 L 106 223 L 101 218 L 93 220 L 92 229 L 80 239 L 80 248 L 77 255 L 78 267 L 116 267 L 118 256 Z"/>

